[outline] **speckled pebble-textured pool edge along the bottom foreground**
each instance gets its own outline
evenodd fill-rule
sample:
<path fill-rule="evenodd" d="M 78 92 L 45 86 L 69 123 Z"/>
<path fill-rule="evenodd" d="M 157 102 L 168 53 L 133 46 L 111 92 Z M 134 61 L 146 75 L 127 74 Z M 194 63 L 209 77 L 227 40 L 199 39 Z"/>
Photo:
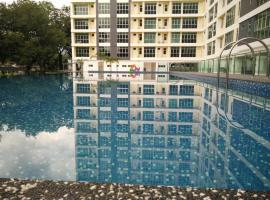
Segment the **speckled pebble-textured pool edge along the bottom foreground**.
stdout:
<path fill-rule="evenodd" d="M 268 192 L 0 179 L 0 199 L 270 199 Z"/>

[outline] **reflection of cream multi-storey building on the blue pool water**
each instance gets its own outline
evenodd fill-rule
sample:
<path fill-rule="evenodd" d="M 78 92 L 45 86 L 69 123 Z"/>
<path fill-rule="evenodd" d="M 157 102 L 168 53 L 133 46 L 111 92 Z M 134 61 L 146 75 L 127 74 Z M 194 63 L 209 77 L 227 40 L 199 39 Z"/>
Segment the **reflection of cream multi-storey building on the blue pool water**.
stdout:
<path fill-rule="evenodd" d="M 74 91 L 78 181 L 269 190 L 269 101 L 220 90 L 219 115 L 215 87 L 162 74 Z"/>

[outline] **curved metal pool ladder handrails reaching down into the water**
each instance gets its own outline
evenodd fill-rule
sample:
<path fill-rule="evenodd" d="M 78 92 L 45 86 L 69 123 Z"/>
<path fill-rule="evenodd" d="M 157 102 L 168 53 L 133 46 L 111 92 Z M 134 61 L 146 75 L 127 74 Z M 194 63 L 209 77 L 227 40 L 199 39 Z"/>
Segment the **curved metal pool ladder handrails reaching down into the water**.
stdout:
<path fill-rule="evenodd" d="M 225 108 L 224 108 L 224 113 L 225 113 L 225 118 L 226 120 L 232 125 L 234 126 L 235 128 L 238 128 L 238 129 L 245 129 L 244 127 L 242 126 L 238 126 L 236 124 L 234 124 L 234 121 L 230 120 L 228 115 L 227 115 L 227 112 L 228 112 L 228 89 L 229 89 L 229 72 L 230 72 L 230 60 L 231 60 L 231 55 L 232 55 L 232 51 L 234 50 L 234 48 L 238 45 L 238 44 L 244 44 L 246 45 L 251 53 L 252 53 L 252 67 L 253 67 L 253 71 L 252 71 L 252 75 L 255 76 L 255 70 L 256 70 L 256 55 L 255 55 L 255 51 L 254 51 L 254 48 L 248 43 L 246 42 L 247 40 L 249 41 L 254 41 L 254 42 L 259 42 L 261 43 L 265 50 L 266 50 L 266 53 L 267 53 L 267 77 L 269 78 L 270 76 L 270 57 L 269 57 L 269 54 L 270 54 L 270 50 L 268 48 L 268 46 L 266 45 L 265 42 L 263 42 L 262 40 L 258 39 L 258 38 L 254 38 L 254 37 L 245 37 L 245 38 L 242 38 L 238 41 L 235 41 L 235 42 L 231 42 L 229 44 L 227 44 L 221 51 L 220 55 L 219 55 L 219 58 L 218 58 L 218 71 L 217 71 L 217 90 L 216 90 L 216 109 L 217 109 L 217 113 L 219 116 L 223 116 L 220 112 L 219 112 L 219 88 L 220 88 L 220 68 L 221 68 L 221 59 L 222 59 L 222 55 L 224 53 L 225 50 L 228 50 L 229 48 L 229 55 L 226 59 L 226 92 L 225 92 Z"/>

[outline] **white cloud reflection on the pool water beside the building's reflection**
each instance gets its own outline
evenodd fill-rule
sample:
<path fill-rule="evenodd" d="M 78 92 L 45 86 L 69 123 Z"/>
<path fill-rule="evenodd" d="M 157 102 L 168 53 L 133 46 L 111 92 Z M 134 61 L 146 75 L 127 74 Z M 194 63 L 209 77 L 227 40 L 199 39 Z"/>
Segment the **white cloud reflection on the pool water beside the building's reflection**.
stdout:
<path fill-rule="evenodd" d="M 75 180 L 74 129 L 26 137 L 20 130 L 1 132 L 0 177 Z"/>

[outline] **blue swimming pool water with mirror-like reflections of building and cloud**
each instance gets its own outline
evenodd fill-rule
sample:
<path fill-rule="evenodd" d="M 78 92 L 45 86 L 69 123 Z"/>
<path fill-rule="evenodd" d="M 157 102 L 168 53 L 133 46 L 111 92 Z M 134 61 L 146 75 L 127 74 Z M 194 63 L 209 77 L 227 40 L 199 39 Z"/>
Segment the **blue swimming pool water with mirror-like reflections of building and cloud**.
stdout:
<path fill-rule="evenodd" d="M 0 177 L 270 191 L 269 84 L 253 86 L 1 78 Z"/>

